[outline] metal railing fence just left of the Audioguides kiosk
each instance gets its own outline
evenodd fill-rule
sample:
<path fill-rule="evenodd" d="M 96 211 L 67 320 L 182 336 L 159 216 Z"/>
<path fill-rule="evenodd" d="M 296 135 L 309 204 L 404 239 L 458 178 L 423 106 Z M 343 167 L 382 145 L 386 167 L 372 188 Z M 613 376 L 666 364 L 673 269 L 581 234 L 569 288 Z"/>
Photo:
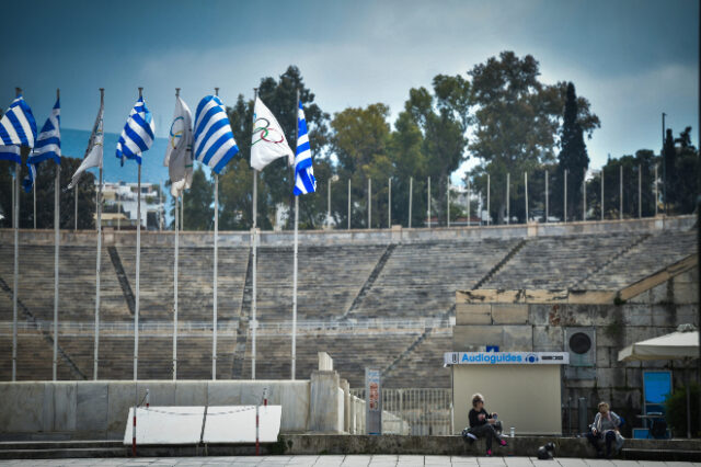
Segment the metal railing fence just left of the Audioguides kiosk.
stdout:
<path fill-rule="evenodd" d="M 350 394 L 365 399 L 365 389 Z M 383 434 L 452 434 L 451 389 L 382 388 L 382 412 Z"/>

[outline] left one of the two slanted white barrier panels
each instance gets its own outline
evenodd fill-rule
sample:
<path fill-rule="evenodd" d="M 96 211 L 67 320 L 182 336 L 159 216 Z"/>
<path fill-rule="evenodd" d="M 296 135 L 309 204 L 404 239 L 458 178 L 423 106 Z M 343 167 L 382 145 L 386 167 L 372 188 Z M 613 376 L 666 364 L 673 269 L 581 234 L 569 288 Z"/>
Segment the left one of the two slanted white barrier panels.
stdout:
<path fill-rule="evenodd" d="M 139 444 L 197 444 L 202 435 L 205 408 L 151 407 L 136 410 L 136 443 Z M 129 408 L 124 444 L 131 445 L 134 407 Z"/>

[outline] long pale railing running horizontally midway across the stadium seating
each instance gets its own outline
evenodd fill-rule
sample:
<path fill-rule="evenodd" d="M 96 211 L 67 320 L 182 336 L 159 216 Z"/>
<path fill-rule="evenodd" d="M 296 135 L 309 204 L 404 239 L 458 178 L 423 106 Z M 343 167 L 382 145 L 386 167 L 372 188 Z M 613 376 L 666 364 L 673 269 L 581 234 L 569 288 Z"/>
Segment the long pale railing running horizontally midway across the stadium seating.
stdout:
<path fill-rule="evenodd" d="M 368 334 L 379 332 L 416 333 L 426 328 L 433 328 L 434 334 L 449 334 L 450 327 L 455 324 L 455 318 L 424 318 L 424 319 L 368 319 L 359 321 L 297 321 L 298 334 Z M 249 322 L 249 327 L 252 323 Z M 91 335 L 94 333 L 93 321 L 60 321 L 58 332 L 60 335 Z M 235 337 L 239 329 L 239 319 L 220 321 L 217 323 L 217 333 L 222 337 Z M 258 321 L 258 335 L 290 335 L 291 321 Z M 204 337 L 214 331 L 209 321 L 180 321 L 177 323 L 179 335 Z M 20 321 L 18 332 L 54 332 L 54 321 Z M 139 333 L 143 335 L 171 334 L 172 321 L 140 322 Z M 131 337 L 134 322 L 131 321 L 101 321 L 100 333 L 113 337 Z M 0 335 L 12 335 L 12 321 L 0 321 Z"/>

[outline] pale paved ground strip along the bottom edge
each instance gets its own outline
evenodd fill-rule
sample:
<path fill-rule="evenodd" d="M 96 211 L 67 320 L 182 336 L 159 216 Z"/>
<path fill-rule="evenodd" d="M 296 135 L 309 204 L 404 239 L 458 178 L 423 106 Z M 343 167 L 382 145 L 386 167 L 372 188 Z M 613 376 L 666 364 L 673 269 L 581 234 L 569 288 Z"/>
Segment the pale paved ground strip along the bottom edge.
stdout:
<path fill-rule="evenodd" d="M 618 466 L 698 466 L 699 463 L 652 462 L 652 460 L 600 460 L 558 458 L 538 460 L 533 457 L 460 457 L 460 456 L 261 456 L 261 457 L 137 457 L 137 458 L 92 458 L 92 459 L 27 459 L 0 460 L 1 466 L 299 466 L 299 467 L 389 467 L 389 466 L 489 466 L 489 467 L 618 467 Z"/>

